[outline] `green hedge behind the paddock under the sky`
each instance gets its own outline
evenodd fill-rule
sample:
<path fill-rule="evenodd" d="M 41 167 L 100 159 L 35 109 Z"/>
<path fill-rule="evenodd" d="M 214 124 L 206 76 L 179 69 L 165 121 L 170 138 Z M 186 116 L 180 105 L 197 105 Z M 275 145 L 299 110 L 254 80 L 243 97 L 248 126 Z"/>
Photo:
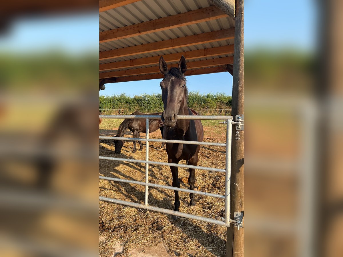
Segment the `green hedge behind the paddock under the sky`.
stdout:
<path fill-rule="evenodd" d="M 188 107 L 200 114 L 231 113 L 232 97 L 224 93 L 199 94 L 190 92 Z M 142 94 L 129 97 L 125 94 L 99 97 L 99 111 L 102 114 L 130 114 L 133 111 L 145 113 L 163 111 L 161 94 Z"/>

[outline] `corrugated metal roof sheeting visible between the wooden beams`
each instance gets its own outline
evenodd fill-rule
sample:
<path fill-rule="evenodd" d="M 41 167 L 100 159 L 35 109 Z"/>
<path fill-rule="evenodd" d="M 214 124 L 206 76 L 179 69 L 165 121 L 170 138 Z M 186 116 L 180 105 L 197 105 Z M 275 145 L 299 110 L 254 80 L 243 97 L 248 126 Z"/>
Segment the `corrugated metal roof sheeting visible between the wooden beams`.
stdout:
<path fill-rule="evenodd" d="M 132 4 L 124 5 L 116 9 L 108 10 L 105 12 L 100 12 L 99 14 L 99 30 L 100 32 L 111 30 L 115 28 L 125 27 L 133 24 L 139 24 L 142 22 L 147 22 L 150 20 L 159 19 L 162 17 L 167 17 L 170 15 L 176 15 L 179 13 L 185 13 L 192 10 L 197 10 L 213 5 L 208 0 L 142 0 L 134 2 Z M 192 25 L 166 29 L 158 32 L 153 32 L 149 34 L 132 36 L 124 39 L 118 39 L 114 41 L 103 42 L 99 44 L 100 52 L 109 51 L 114 49 L 126 48 L 131 46 L 138 46 L 163 40 L 175 39 L 180 37 L 192 36 L 197 34 L 202 34 L 206 32 L 212 32 L 216 30 L 222 30 L 234 27 L 234 20 L 230 17 L 224 17 L 221 19 L 200 22 Z M 213 48 L 218 46 L 227 46 L 234 44 L 234 39 L 219 40 L 215 42 L 209 42 L 205 44 L 196 44 L 187 47 L 180 47 L 174 49 L 167 49 L 161 51 L 154 51 L 142 54 L 135 54 L 131 56 L 124 56 L 118 58 L 111 58 L 100 60 L 100 64 L 119 62 L 132 59 L 140 59 L 153 56 L 163 56 L 165 54 L 172 54 L 185 51 L 193 51 L 205 48 Z M 232 54 L 221 54 L 216 56 L 195 58 L 191 61 L 200 61 L 206 59 L 223 58 L 232 56 Z M 190 60 L 188 60 L 190 61 Z M 168 62 L 177 63 L 177 62 Z M 156 66 L 152 65 L 141 65 L 134 67 L 127 67 L 122 69 L 106 70 L 100 71 L 100 73 L 120 71 L 120 70 L 130 70 L 138 68 L 147 68 Z M 186 74 L 187 75 L 187 74 Z"/>

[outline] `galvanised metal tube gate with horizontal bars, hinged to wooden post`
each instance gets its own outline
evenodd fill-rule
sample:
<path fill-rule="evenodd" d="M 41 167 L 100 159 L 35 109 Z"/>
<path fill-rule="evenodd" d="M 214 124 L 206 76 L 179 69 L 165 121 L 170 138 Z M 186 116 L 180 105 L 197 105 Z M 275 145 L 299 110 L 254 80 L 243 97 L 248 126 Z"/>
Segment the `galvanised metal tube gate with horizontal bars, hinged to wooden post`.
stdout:
<path fill-rule="evenodd" d="M 132 184 L 138 184 L 138 185 L 145 186 L 144 205 L 138 204 L 138 203 L 133 203 L 130 201 L 123 201 L 123 200 L 119 200 L 119 199 L 103 197 L 103 196 L 99 196 L 99 200 L 108 201 L 108 202 L 116 203 L 116 204 L 128 205 L 128 206 L 137 207 L 137 208 L 146 209 L 146 210 L 162 212 L 162 213 L 166 213 L 166 214 L 170 214 L 170 215 L 176 215 L 176 216 L 189 218 L 189 219 L 195 219 L 195 220 L 199 220 L 199 221 L 205 221 L 205 222 L 213 223 L 216 225 L 222 225 L 225 227 L 229 227 L 230 222 L 231 222 L 231 223 L 235 223 L 235 226 L 238 229 L 239 229 L 239 227 L 241 227 L 239 220 L 236 220 L 236 219 L 232 220 L 229 218 L 229 214 L 230 214 L 230 176 L 231 176 L 232 124 L 237 124 L 237 122 L 233 121 L 232 116 L 222 116 L 222 115 L 216 115 L 216 116 L 210 116 L 210 115 L 179 115 L 178 116 L 178 119 L 180 119 L 180 120 L 225 120 L 224 122 L 221 122 L 221 123 L 226 124 L 226 143 L 211 143 L 211 142 L 168 140 L 168 139 L 150 139 L 149 138 L 149 119 L 161 119 L 161 115 L 99 115 L 99 118 L 102 118 L 102 119 L 146 119 L 146 138 L 99 136 L 99 139 L 108 139 L 108 140 L 118 140 L 119 139 L 119 140 L 128 140 L 128 141 L 144 141 L 144 142 L 146 142 L 145 160 L 135 160 L 135 159 L 99 156 L 99 159 L 103 159 L 103 160 L 145 163 L 145 182 L 99 176 L 100 179 L 104 179 L 104 180 L 111 180 L 111 181 L 124 182 L 124 183 L 132 183 Z M 239 118 L 241 118 L 241 117 L 239 117 Z M 181 143 L 181 144 L 191 144 L 191 145 L 208 145 L 208 146 L 226 147 L 225 169 L 194 166 L 194 165 L 188 165 L 188 164 L 149 161 L 149 142 L 161 142 L 161 143 L 165 142 L 165 143 L 179 143 L 179 144 Z M 182 168 L 193 168 L 193 169 L 208 170 L 208 171 L 214 171 L 214 172 L 223 172 L 223 173 L 225 173 L 225 195 L 212 194 L 212 193 L 208 193 L 208 192 L 195 191 L 195 190 L 190 190 L 190 189 L 185 189 L 185 188 L 178 188 L 178 187 L 173 187 L 173 186 L 166 186 L 166 185 L 149 183 L 149 164 L 174 166 L 174 167 L 182 167 Z M 222 218 L 222 220 L 217 220 L 217 219 L 206 218 L 206 217 L 202 217 L 202 216 L 198 216 L 198 215 L 192 215 L 192 214 L 188 214 L 185 212 L 179 212 L 179 211 L 174 211 L 174 210 L 150 206 L 150 205 L 148 205 L 148 195 L 149 195 L 148 189 L 149 189 L 149 186 L 225 199 L 224 218 Z"/>

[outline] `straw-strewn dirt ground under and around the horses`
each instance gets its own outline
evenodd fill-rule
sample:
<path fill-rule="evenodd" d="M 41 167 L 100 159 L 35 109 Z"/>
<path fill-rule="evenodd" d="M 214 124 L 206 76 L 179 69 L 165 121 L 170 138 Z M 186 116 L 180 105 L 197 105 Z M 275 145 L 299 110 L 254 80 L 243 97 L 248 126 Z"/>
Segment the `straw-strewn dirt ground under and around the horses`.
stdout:
<path fill-rule="evenodd" d="M 121 121 L 103 119 L 99 134 L 115 136 Z M 205 142 L 225 142 L 225 125 L 218 124 L 218 121 L 202 121 L 202 123 Z M 132 132 L 127 131 L 125 136 L 132 137 Z M 144 136 L 145 134 L 141 133 L 141 137 Z M 160 131 L 150 133 L 150 138 L 161 138 Z M 165 150 L 159 151 L 160 147 L 160 143 L 150 142 L 149 159 L 167 162 L 167 153 Z M 100 140 L 100 156 L 145 159 L 144 143 L 143 150 L 134 154 L 132 142 L 124 144 L 120 155 L 116 155 L 114 149 L 111 140 Z M 186 164 L 186 161 L 180 163 Z M 225 148 L 201 146 L 198 166 L 224 169 Z M 102 176 L 145 181 L 143 163 L 99 160 L 99 170 Z M 171 185 L 171 172 L 168 166 L 149 165 L 149 171 L 150 183 Z M 181 188 L 189 188 L 188 176 L 188 169 L 179 168 Z M 196 186 L 201 191 L 224 194 L 224 185 L 224 173 L 196 170 Z M 142 204 L 144 190 L 144 186 L 141 185 L 99 180 L 99 194 L 104 197 Z M 195 195 L 197 205 L 190 207 L 188 193 L 180 192 L 179 197 L 182 212 L 214 219 L 223 217 L 224 199 Z M 174 209 L 174 192 L 163 188 L 149 188 L 149 205 Z M 99 256 L 101 257 L 138 256 L 137 254 L 141 256 L 142 253 L 142 256 L 161 256 L 164 250 L 170 256 L 225 256 L 225 239 L 225 227 L 181 217 L 174 221 L 170 215 L 164 213 L 99 202 Z M 155 249 L 155 255 L 154 252 L 151 253 L 151 249 Z"/>

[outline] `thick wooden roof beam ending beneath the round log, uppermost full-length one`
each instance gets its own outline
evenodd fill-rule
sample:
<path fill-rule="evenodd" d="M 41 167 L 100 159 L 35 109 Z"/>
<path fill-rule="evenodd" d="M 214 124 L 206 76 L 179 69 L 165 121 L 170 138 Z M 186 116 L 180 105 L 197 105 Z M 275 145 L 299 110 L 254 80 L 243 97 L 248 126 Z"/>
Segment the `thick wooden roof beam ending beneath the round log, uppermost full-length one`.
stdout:
<path fill-rule="evenodd" d="M 100 43 L 144 35 L 161 30 L 177 28 L 199 22 L 206 22 L 226 17 L 226 14 L 215 6 L 210 6 L 186 13 L 180 13 L 160 19 L 133 24 L 121 28 L 100 32 Z"/>

